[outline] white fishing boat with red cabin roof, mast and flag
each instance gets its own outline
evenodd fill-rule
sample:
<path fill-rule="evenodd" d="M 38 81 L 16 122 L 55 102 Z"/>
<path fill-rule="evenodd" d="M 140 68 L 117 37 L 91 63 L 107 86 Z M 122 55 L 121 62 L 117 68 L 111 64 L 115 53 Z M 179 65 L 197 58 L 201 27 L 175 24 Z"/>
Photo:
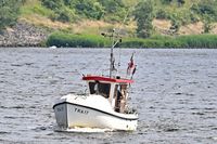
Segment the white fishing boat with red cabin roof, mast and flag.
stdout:
<path fill-rule="evenodd" d="M 114 31 L 113 31 L 114 32 Z M 107 37 L 108 35 L 103 34 Z M 69 93 L 53 105 L 58 127 L 61 129 L 92 128 L 122 131 L 135 131 L 138 126 L 138 114 L 129 108 L 128 89 L 131 78 L 115 76 L 113 49 L 119 42 L 114 40 L 111 47 L 108 76 L 84 75 L 87 82 L 87 94 Z M 133 54 L 128 63 L 128 71 L 135 73 Z"/>

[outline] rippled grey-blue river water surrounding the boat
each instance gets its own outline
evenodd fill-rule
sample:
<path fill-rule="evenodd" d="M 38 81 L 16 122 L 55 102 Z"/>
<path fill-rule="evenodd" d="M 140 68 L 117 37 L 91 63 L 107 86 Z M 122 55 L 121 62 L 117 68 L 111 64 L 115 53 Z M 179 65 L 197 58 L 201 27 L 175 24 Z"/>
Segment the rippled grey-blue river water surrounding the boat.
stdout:
<path fill-rule="evenodd" d="M 54 131 L 52 105 L 86 89 L 82 74 L 107 74 L 110 50 L 1 48 L 0 143 L 217 143 L 217 50 L 116 50 L 123 74 L 132 52 L 138 130 L 72 133 Z"/>

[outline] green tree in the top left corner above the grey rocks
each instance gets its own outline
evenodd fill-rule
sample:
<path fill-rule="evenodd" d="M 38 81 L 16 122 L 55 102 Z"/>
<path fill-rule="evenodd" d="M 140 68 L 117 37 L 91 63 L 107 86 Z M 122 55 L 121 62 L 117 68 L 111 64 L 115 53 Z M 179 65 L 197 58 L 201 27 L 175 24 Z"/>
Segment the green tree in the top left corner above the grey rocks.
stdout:
<path fill-rule="evenodd" d="M 21 4 L 17 0 L 0 0 L 0 30 L 15 24 Z"/>

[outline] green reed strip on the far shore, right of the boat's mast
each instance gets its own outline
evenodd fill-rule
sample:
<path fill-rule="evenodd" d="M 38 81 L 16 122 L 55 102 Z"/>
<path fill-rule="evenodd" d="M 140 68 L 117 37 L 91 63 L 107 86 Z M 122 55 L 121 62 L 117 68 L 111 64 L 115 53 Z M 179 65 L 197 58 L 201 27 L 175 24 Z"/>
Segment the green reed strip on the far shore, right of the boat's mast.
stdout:
<path fill-rule="evenodd" d="M 149 39 L 127 39 L 124 40 L 122 48 L 217 48 L 216 35 L 192 35 L 192 36 L 179 36 L 162 37 L 155 36 Z"/>

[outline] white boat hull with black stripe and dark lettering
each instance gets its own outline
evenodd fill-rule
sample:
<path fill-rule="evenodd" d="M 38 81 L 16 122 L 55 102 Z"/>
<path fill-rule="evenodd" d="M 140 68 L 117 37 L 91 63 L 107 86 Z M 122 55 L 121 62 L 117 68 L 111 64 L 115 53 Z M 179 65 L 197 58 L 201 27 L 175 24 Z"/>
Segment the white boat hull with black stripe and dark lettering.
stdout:
<path fill-rule="evenodd" d="M 60 128 L 81 127 L 125 131 L 137 129 L 138 117 L 135 114 L 119 114 L 90 105 L 76 104 L 79 99 L 73 100 L 74 103 L 67 102 L 67 99 L 65 99 L 65 101 L 59 102 L 53 106 Z M 97 106 L 97 104 L 93 105 Z"/>

